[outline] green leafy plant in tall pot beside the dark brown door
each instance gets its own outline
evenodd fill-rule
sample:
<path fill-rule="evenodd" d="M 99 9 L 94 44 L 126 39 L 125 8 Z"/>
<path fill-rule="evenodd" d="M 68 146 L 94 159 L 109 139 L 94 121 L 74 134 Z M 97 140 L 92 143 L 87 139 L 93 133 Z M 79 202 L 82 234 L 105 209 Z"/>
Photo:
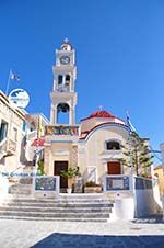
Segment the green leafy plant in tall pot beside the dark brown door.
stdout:
<path fill-rule="evenodd" d="M 68 193 L 72 192 L 72 185 L 74 181 L 74 177 L 77 176 L 77 168 L 69 167 L 68 170 L 62 170 L 60 174 L 65 178 L 68 178 L 68 185 L 69 188 L 67 189 Z"/>

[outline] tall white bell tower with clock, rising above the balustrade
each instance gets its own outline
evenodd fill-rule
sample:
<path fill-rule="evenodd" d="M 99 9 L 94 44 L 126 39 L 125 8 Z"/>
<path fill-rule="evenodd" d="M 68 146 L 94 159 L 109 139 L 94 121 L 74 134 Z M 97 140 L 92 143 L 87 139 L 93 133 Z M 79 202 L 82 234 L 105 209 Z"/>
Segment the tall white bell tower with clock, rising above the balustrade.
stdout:
<path fill-rule="evenodd" d="M 74 125 L 77 92 L 74 82 L 77 79 L 75 50 L 66 38 L 60 48 L 56 50 L 56 65 L 52 66 L 54 88 L 50 92 L 51 110 L 50 123 L 58 123 L 59 112 L 69 113 L 69 125 Z M 60 123 L 62 124 L 62 123 Z"/>

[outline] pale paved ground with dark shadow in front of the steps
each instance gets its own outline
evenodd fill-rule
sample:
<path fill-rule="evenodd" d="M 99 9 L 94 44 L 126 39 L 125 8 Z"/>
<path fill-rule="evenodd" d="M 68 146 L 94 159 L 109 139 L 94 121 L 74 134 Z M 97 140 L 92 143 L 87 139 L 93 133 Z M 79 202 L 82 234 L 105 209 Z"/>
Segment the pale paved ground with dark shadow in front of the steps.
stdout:
<path fill-rule="evenodd" d="M 0 219 L 0 248 L 164 248 L 164 224 Z"/>

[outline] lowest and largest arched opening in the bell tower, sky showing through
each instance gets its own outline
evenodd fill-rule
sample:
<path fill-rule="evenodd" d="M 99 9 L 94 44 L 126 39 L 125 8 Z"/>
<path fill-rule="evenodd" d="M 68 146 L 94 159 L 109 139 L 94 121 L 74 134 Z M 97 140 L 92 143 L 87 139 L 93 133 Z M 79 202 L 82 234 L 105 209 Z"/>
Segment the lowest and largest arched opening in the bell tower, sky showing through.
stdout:
<path fill-rule="evenodd" d="M 57 105 L 57 124 L 69 124 L 70 106 L 67 103 Z"/>

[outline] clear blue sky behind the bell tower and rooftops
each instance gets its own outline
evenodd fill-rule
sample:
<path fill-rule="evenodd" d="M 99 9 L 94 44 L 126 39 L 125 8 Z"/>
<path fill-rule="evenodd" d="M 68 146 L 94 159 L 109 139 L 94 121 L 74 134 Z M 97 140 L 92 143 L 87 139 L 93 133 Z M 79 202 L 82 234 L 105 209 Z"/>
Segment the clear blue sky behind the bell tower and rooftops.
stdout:
<path fill-rule="evenodd" d="M 131 121 L 154 149 L 164 142 L 163 0 L 0 0 L 0 89 L 31 95 L 28 112 L 49 117 L 55 49 L 77 50 L 77 122 L 103 109 Z"/>

